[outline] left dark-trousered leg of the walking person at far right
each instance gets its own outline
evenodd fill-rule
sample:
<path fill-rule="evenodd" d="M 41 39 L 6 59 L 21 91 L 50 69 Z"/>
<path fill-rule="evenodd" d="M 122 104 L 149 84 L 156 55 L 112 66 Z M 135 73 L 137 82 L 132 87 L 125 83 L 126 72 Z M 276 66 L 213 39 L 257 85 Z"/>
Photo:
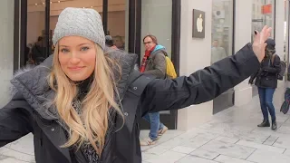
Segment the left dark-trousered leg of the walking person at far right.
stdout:
<path fill-rule="evenodd" d="M 260 98 L 260 105 L 261 110 L 263 113 L 263 122 L 258 127 L 270 127 L 269 118 L 268 118 L 268 111 L 266 109 L 266 89 L 265 88 L 258 88 L 259 98 Z"/>

